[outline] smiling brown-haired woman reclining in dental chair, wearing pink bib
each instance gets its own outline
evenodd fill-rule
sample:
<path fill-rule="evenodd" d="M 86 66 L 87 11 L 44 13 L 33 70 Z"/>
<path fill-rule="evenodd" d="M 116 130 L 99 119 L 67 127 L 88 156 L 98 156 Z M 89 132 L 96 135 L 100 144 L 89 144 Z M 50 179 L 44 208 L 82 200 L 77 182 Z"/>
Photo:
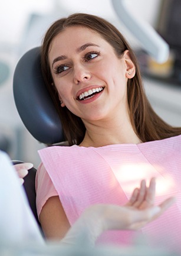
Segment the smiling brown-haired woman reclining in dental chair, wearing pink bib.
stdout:
<path fill-rule="evenodd" d="M 55 21 L 42 43 L 41 64 L 71 146 L 40 151 L 37 208 L 47 237 L 64 237 L 90 205 L 124 205 L 140 179 L 157 177 L 158 186 L 167 187 L 156 203 L 167 193 L 180 195 L 181 128 L 153 111 L 133 50 L 113 25 L 88 14 Z M 170 246 L 179 246 L 178 205 L 141 233 L 164 242 L 172 232 Z M 107 232 L 99 242 L 129 244 L 134 234 Z"/>

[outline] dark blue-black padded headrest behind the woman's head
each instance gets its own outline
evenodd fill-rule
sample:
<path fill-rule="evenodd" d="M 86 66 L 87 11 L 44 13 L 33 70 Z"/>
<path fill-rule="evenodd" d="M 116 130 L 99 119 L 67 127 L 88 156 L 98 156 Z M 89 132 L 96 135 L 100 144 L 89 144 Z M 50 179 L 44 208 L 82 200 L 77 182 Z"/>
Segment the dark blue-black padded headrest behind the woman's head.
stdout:
<path fill-rule="evenodd" d="M 41 74 L 40 47 L 29 50 L 18 61 L 13 91 L 19 116 L 32 136 L 44 143 L 64 141 L 62 125 Z"/>

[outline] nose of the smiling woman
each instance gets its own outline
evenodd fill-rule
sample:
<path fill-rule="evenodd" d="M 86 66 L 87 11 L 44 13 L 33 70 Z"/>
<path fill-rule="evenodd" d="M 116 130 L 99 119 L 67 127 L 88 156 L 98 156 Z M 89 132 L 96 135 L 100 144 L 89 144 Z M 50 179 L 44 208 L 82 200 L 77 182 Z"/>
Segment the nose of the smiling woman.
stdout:
<path fill-rule="evenodd" d="M 74 66 L 74 83 L 78 85 L 80 82 L 85 82 L 90 79 L 90 72 L 81 64 Z"/>

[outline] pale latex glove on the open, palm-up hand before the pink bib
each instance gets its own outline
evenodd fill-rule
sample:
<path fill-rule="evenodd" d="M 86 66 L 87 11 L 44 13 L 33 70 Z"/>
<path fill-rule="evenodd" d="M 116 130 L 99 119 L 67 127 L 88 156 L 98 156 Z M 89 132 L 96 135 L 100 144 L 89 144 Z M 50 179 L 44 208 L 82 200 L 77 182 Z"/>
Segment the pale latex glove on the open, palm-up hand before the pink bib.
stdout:
<path fill-rule="evenodd" d="M 62 244 L 87 244 L 94 246 L 104 231 L 111 229 L 140 229 L 158 218 L 174 202 L 169 197 L 159 206 L 154 205 L 155 179 L 146 187 L 141 181 L 140 189 L 134 189 L 129 202 L 124 206 L 98 204 L 85 209 L 80 218 L 67 232 Z"/>

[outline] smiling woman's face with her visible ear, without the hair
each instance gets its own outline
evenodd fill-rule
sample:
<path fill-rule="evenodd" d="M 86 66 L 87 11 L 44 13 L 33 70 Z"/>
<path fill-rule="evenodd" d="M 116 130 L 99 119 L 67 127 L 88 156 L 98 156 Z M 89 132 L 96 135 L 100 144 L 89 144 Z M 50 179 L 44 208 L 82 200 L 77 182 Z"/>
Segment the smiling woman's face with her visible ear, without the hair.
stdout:
<path fill-rule="evenodd" d="M 119 59 L 98 33 L 77 26 L 52 40 L 48 59 L 60 105 L 83 121 L 127 111 L 126 85 L 132 63 L 128 51 Z"/>

